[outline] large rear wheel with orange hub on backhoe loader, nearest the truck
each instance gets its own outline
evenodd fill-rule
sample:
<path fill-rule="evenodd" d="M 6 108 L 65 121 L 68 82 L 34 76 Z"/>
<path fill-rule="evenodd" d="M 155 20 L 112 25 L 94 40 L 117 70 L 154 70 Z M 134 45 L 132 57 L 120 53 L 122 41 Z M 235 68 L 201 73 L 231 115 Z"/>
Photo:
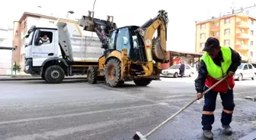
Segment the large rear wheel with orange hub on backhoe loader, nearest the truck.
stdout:
<path fill-rule="evenodd" d="M 116 58 L 111 58 L 107 61 L 105 80 L 110 87 L 118 87 L 123 84 L 121 80 L 121 63 Z"/>

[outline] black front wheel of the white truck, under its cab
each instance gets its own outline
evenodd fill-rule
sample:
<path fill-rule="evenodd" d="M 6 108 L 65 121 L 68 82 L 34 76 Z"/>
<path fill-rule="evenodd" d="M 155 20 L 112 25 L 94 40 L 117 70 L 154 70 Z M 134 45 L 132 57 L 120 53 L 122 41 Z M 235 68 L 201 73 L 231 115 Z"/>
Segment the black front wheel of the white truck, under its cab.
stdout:
<path fill-rule="evenodd" d="M 62 67 L 59 67 L 58 65 L 47 67 L 44 73 L 44 78 L 46 82 L 49 83 L 60 83 L 63 81 L 64 77 L 65 72 Z"/>

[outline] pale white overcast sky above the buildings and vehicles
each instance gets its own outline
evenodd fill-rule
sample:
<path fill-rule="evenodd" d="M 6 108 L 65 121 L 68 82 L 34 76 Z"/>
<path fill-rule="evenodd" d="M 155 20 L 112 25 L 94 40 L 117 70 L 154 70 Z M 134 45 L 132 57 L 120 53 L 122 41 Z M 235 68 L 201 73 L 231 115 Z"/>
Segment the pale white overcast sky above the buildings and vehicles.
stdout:
<path fill-rule="evenodd" d="M 254 5 L 249 0 L 233 0 L 235 7 Z M 167 4 L 167 2 L 169 2 Z M 74 11 L 73 17 L 79 18 L 92 10 L 94 0 L 8 0 L 2 2 L 0 26 L 8 26 L 13 20 L 19 20 L 24 11 L 37 11 L 42 7 L 43 14 L 52 13 L 56 17 L 65 17 L 67 11 Z M 255 2 L 256 3 L 256 2 Z M 114 16 L 117 26 L 142 25 L 149 18 L 155 17 L 159 9 L 168 11 L 168 50 L 195 50 L 194 20 L 207 20 L 231 11 L 232 0 L 97 0 L 94 11 L 96 18 L 106 19 L 107 14 Z M 253 14 L 250 11 L 250 14 Z M 256 17 L 256 14 L 253 14 Z"/>

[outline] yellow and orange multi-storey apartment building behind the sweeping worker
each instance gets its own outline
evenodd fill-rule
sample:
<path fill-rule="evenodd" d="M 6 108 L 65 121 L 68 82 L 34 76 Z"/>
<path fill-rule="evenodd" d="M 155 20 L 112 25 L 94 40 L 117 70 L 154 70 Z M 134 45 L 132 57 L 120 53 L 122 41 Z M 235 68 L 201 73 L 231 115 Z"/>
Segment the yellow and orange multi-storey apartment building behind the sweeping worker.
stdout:
<path fill-rule="evenodd" d="M 239 13 L 197 22 L 196 52 L 203 53 L 206 39 L 215 37 L 221 46 L 238 51 L 243 61 L 256 62 L 255 21 L 255 17 Z"/>

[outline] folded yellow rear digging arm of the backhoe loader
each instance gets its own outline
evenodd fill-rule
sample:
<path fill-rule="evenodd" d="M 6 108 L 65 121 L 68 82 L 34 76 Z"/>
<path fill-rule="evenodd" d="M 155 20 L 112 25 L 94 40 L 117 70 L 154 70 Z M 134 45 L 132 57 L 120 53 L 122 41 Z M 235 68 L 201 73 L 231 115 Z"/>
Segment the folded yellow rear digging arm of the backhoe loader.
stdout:
<path fill-rule="evenodd" d="M 158 11 L 158 15 L 140 26 L 136 32 L 139 33 L 145 46 L 148 61 L 167 63 L 166 53 L 168 14 L 166 11 Z M 155 31 L 157 37 L 153 39 Z"/>

